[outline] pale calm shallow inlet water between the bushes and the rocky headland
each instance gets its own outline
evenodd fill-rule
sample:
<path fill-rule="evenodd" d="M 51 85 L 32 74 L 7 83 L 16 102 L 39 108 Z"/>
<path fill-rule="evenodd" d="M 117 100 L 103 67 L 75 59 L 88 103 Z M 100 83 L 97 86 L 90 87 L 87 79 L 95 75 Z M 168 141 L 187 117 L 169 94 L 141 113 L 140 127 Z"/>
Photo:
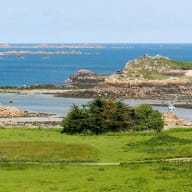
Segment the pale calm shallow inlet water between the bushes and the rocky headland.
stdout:
<path fill-rule="evenodd" d="M 14 100 L 15 103 L 9 104 L 9 100 Z M 15 106 L 21 110 L 55 113 L 60 116 L 65 115 L 73 104 L 82 105 L 89 101 L 91 101 L 91 99 L 61 98 L 44 94 L 19 95 L 0 93 L 0 103 L 3 105 Z M 136 106 L 142 103 L 160 103 L 160 101 L 140 99 L 126 99 L 125 102 L 131 106 Z M 154 109 L 162 112 L 167 112 L 168 110 L 167 107 L 154 107 Z M 192 109 L 177 108 L 175 113 L 183 119 L 192 121 Z"/>

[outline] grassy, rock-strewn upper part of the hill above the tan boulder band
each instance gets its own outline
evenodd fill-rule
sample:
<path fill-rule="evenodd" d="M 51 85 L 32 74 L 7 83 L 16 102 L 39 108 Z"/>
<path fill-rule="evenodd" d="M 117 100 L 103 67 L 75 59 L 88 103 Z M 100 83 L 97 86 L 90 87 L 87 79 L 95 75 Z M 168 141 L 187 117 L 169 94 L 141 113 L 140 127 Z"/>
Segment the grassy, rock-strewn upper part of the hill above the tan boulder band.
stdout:
<path fill-rule="evenodd" d="M 175 61 L 162 56 L 143 56 L 128 62 L 123 72 L 132 80 L 165 80 L 188 78 L 185 76 L 184 70 L 191 69 L 192 62 Z"/>

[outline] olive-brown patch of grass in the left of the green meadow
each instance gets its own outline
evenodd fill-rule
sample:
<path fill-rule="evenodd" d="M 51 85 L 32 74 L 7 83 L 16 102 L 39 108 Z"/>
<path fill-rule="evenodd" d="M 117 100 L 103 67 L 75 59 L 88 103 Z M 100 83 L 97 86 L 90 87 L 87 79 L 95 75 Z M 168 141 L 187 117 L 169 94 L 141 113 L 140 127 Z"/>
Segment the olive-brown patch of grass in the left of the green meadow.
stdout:
<path fill-rule="evenodd" d="M 96 161 L 97 155 L 97 150 L 88 144 L 0 142 L 2 162 L 91 162 Z"/>

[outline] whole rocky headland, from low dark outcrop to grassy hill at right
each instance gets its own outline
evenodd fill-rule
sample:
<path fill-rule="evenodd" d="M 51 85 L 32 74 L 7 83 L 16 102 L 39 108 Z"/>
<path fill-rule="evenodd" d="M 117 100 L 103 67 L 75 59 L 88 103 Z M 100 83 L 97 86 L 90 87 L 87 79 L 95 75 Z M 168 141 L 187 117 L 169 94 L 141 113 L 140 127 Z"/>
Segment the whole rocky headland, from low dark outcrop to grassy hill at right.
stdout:
<path fill-rule="evenodd" d="M 97 75 L 81 70 L 68 80 L 74 90 L 58 96 L 192 99 L 192 62 L 174 61 L 167 57 L 144 55 L 126 63 L 122 71 Z"/>

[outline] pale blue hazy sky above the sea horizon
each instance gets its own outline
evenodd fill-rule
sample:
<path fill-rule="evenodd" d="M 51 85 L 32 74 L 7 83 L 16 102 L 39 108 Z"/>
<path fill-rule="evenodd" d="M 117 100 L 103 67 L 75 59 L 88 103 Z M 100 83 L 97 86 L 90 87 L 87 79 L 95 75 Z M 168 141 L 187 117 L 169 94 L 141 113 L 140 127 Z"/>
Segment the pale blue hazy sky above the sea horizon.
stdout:
<path fill-rule="evenodd" d="M 191 0 L 0 0 L 0 43 L 192 43 Z"/>

